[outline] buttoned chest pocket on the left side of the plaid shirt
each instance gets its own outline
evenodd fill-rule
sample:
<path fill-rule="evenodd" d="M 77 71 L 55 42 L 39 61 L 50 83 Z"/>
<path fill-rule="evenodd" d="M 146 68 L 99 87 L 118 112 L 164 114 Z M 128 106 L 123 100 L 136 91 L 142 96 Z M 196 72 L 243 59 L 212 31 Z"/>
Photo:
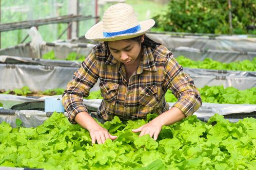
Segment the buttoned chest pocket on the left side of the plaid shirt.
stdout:
<path fill-rule="evenodd" d="M 99 87 L 101 90 L 101 96 L 104 101 L 108 104 L 116 104 L 117 95 L 118 95 L 118 84 L 117 83 L 106 83 L 100 82 Z"/>

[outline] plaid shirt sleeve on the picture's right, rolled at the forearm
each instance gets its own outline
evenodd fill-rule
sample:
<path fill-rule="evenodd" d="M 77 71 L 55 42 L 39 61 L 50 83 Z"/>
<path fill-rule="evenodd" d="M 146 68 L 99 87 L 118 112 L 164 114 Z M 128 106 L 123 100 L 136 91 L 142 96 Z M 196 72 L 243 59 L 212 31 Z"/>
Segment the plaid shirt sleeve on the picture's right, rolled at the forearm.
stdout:
<path fill-rule="evenodd" d="M 193 115 L 202 105 L 199 91 L 193 79 L 183 72 L 173 57 L 170 57 L 166 66 L 166 77 L 168 88 L 178 100 L 172 107 L 180 109 L 186 117 Z"/>

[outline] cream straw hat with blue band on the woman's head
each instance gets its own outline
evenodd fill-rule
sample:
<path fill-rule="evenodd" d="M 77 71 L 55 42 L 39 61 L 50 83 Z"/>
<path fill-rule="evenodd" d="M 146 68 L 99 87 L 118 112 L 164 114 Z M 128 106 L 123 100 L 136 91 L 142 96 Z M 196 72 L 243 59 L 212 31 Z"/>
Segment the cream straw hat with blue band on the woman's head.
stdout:
<path fill-rule="evenodd" d="M 144 34 L 155 24 L 153 19 L 138 22 L 132 6 L 118 3 L 110 6 L 102 21 L 95 24 L 85 34 L 85 38 L 95 41 L 116 41 Z"/>

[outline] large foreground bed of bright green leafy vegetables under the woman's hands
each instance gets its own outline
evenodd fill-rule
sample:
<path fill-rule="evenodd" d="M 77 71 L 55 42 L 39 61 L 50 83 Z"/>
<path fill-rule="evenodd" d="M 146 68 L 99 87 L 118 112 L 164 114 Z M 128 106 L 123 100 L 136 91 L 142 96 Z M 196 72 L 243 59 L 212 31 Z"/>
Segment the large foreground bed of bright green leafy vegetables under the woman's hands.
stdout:
<path fill-rule="evenodd" d="M 255 170 L 256 119 L 229 123 L 215 115 L 204 123 L 191 116 L 163 126 L 155 141 L 138 137 L 131 129 L 147 120 L 121 122 L 118 117 L 103 126 L 118 136 L 91 145 L 89 132 L 54 113 L 37 128 L 0 124 L 0 166 L 49 170 Z M 217 122 L 214 126 L 212 122 Z"/>

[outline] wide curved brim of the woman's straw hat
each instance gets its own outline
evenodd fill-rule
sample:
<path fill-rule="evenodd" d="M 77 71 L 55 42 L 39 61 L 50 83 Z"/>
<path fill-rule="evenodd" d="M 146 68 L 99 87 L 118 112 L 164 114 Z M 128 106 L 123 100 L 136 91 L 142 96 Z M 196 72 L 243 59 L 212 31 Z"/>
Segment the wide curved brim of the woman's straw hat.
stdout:
<path fill-rule="evenodd" d="M 140 21 L 139 24 L 141 29 L 136 33 L 120 34 L 120 35 L 111 36 L 111 37 L 104 37 L 103 22 L 100 21 L 87 31 L 87 33 L 85 34 L 85 38 L 94 40 L 94 41 L 117 41 L 121 39 L 133 38 L 133 37 L 145 34 L 147 31 L 149 31 L 155 25 L 155 21 L 154 19 L 147 19 L 144 21 Z"/>

